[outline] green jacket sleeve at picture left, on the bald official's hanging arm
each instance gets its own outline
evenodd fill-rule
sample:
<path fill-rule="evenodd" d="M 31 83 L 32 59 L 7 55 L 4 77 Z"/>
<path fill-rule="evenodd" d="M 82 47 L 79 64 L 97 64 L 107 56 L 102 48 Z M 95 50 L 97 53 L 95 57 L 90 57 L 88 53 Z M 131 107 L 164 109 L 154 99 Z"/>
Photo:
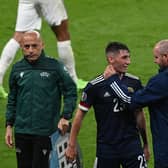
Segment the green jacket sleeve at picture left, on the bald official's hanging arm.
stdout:
<path fill-rule="evenodd" d="M 13 126 L 15 122 L 16 97 L 17 97 L 17 85 L 16 80 L 14 78 L 14 68 L 12 68 L 9 78 L 9 95 L 6 110 L 6 126 L 7 125 Z"/>

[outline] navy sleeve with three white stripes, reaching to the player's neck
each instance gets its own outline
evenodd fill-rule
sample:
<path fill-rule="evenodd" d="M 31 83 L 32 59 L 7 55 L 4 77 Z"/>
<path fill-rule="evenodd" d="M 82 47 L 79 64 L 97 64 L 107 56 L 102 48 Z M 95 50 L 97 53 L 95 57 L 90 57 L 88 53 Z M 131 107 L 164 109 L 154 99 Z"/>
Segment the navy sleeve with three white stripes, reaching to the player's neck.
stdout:
<path fill-rule="evenodd" d="M 128 89 L 121 84 L 118 75 L 113 75 L 111 78 L 113 82 L 110 86 L 113 92 L 128 105 L 130 110 L 149 106 L 168 96 L 168 78 L 163 74 L 154 76 L 149 80 L 146 87 L 138 90 L 134 94 L 129 93 Z"/>

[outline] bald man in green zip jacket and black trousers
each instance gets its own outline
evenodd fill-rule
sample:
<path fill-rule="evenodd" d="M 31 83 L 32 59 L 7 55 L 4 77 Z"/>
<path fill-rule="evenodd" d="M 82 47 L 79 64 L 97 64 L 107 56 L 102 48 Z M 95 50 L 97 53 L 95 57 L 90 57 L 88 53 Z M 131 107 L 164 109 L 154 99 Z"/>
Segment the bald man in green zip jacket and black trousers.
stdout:
<path fill-rule="evenodd" d="M 76 105 L 76 84 L 62 63 L 45 55 L 38 32 L 26 32 L 21 48 L 24 58 L 10 74 L 5 141 L 13 147 L 15 127 L 18 168 L 49 168 L 50 135 L 58 129 L 66 132 Z"/>

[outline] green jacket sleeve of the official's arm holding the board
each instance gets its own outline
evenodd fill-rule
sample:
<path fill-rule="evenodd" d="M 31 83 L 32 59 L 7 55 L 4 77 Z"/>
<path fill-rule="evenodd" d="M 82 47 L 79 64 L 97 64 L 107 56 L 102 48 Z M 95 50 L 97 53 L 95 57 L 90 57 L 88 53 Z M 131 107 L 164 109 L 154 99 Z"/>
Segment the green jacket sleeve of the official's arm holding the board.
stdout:
<path fill-rule="evenodd" d="M 60 74 L 60 88 L 63 95 L 63 111 L 62 116 L 65 119 L 71 119 L 73 111 L 76 107 L 77 101 L 77 88 L 75 82 L 70 77 L 68 71 L 63 66 L 59 64 L 59 74 Z"/>

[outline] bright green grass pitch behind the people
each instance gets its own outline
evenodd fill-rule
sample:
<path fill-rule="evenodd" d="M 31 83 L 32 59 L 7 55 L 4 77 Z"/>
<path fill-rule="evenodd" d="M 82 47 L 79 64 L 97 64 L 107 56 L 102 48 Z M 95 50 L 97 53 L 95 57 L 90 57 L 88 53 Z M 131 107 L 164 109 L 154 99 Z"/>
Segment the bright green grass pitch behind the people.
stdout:
<path fill-rule="evenodd" d="M 0 0 L 0 52 L 13 35 L 17 0 Z M 143 84 L 157 72 L 153 64 L 152 47 L 168 37 L 167 0 L 65 0 L 69 15 L 69 28 L 75 53 L 78 76 L 90 80 L 101 73 L 105 66 L 104 48 L 109 41 L 121 41 L 131 49 L 132 63 L 129 72 L 138 75 Z M 43 22 L 42 37 L 48 55 L 57 57 L 55 37 Z M 15 61 L 21 57 L 17 53 Z M 14 61 L 14 62 L 15 62 Z M 6 73 L 4 86 L 8 91 Z M 79 92 L 80 97 L 81 92 Z M 79 101 L 79 99 L 78 99 Z M 0 99 L 0 167 L 16 168 L 14 150 L 5 146 L 4 113 L 6 100 Z M 153 168 L 150 122 L 145 109 L 151 159 L 148 167 Z M 85 168 L 93 166 L 95 158 L 95 120 L 93 110 L 86 116 L 79 135 Z"/>

